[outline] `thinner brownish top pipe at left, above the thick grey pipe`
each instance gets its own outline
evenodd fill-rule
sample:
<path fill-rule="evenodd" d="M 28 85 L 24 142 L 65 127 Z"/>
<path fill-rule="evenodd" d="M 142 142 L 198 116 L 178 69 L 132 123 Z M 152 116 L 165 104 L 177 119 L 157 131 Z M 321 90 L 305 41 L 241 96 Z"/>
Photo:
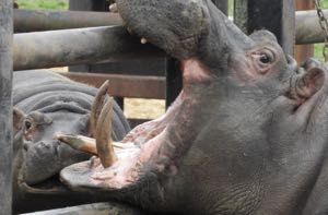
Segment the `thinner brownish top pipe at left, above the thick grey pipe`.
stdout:
<path fill-rule="evenodd" d="M 121 25 L 117 13 L 14 9 L 14 32 L 40 32 Z"/>

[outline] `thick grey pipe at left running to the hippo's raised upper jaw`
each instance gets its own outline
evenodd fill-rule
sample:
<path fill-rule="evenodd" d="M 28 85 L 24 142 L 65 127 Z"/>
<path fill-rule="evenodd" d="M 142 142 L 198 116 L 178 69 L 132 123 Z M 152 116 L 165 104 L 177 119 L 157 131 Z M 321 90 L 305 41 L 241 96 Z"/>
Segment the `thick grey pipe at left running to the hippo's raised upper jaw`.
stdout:
<path fill-rule="evenodd" d="M 14 35 L 14 70 L 50 68 L 149 52 L 122 26 L 61 29 Z"/>

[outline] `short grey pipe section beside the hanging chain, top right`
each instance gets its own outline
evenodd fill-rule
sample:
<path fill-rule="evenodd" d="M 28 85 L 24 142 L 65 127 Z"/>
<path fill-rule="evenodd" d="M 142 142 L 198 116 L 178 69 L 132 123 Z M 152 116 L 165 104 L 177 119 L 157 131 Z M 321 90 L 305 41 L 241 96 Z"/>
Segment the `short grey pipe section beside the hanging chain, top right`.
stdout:
<path fill-rule="evenodd" d="M 323 10 L 328 19 L 328 10 Z M 316 10 L 296 12 L 296 44 L 317 44 L 325 41 L 325 33 L 319 25 Z"/>

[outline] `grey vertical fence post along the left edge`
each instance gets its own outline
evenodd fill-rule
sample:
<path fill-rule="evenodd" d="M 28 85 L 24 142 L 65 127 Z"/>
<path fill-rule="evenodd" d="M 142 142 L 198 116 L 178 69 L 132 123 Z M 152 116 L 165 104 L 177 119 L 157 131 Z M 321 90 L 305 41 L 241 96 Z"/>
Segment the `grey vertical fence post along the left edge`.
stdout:
<path fill-rule="evenodd" d="M 0 1 L 0 214 L 12 204 L 12 0 Z"/>

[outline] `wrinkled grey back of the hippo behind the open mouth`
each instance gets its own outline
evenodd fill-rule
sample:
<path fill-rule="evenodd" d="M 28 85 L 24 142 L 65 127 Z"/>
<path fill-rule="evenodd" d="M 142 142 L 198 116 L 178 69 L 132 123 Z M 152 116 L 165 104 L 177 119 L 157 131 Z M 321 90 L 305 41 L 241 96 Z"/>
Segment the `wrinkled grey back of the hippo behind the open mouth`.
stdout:
<path fill-rule="evenodd" d="M 26 70 L 13 73 L 13 105 L 25 114 L 59 109 L 89 114 L 96 92 L 95 87 L 73 82 L 50 70 Z M 113 128 L 118 140 L 130 130 L 116 103 Z"/>

